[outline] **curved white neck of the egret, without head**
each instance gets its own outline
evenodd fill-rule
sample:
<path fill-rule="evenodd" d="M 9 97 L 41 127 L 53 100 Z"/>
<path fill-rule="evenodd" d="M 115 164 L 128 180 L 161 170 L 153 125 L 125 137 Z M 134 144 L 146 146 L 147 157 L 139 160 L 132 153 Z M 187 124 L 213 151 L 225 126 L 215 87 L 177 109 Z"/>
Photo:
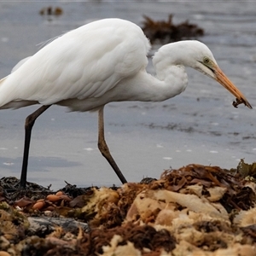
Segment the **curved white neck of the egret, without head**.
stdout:
<path fill-rule="evenodd" d="M 183 61 L 173 51 L 173 44 L 162 46 L 153 57 L 155 76 L 142 70 L 134 78 L 121 82 L 126 91 L 125 98 L 119 97 L 119 101 L 162 102 L 177 96 L 188 84 L 188 76 L 181 63 Z"/>

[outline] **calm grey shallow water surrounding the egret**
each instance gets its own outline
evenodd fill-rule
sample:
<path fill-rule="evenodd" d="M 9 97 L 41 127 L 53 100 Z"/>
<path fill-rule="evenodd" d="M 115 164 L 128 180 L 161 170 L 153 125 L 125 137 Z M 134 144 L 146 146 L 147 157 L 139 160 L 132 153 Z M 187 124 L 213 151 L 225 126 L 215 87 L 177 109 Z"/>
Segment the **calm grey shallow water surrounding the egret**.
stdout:
<path fill-rule="evenodd" d="M 59 17 L 39 15 L 60 6 Z M 0 77 L 38 44 L 90 20 L 119 17 L 142 25 L 174 15 L 204 28 L 201 41 L 212 49 L 230 79 L 255 107 L 256 3 L 4 2 L 0 3 Z M 156 48 L 154 46 L 154 48 Z M 148 72 L 153 73 L 152 67 Z M 189 86 L 166 102 L 119 102 L 105 110 L 106 139 L 129 181 L 160 177 L 164 169 L 189 163 L 236 167 L 255 161 L 255 108 L 233 108 L 234 97 L 215 81 L 188 70 Z M 0 112 L 0 175 L 20 177 L 24 120 L 38 106 Z M 119 184 L 97 149 L 96 113 L 67 113 L 51 107 L 32 131 L 28 180 L 57 189 L 64 180 L 79 186 Z"/>

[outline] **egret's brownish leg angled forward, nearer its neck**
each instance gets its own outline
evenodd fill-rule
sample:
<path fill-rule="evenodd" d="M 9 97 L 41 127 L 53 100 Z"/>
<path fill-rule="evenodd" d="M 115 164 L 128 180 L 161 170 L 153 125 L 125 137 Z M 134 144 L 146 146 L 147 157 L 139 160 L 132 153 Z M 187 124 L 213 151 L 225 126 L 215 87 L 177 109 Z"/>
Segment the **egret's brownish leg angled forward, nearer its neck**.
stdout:
<path fill-rule="evenodd" d="M 122 183 L 127 183 L 123 173 L 119 170 L 119 166 L 113 160 L 112 155 L 109 152 L 108 145 L 105 141 L 104 137 L 104 116 L 103 116 L 103 108 L 99 110 L 99 119 L 98 119 L 98 129 L 99 129 L 99 137 L 98 137 L 98 148 L 102 152 L 102 155 L 108 160 L 110 166 L 112 166 L 113 171 L 119 177 Z"/>

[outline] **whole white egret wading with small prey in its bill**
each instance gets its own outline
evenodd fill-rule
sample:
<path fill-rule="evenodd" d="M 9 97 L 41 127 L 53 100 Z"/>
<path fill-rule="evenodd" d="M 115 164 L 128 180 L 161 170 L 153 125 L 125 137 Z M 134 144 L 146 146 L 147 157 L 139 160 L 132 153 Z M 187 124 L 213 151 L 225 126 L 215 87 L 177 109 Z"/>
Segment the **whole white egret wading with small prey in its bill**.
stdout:
<path fill-rule="evenodd" d="M 192 67 L 230 90 L 236 105 L 252 108 L 205 44 L 182 41 L 160 47 L 153 57 L 155 76 L 146 72 L 149 49 L 139 26 L 127 20 L 98 20 L 56 38 L 0 80 L 1 109 L 43 105 L 26 118 L 21 188 L 26 187 L 32 126 L 52 104 L 98 111 L 98 148 L 122 183 L 126 179 L 104 139 L 103 108 L 108 102 L 161 102 L 177 96 L 188 84 L 185 67 Z"/>

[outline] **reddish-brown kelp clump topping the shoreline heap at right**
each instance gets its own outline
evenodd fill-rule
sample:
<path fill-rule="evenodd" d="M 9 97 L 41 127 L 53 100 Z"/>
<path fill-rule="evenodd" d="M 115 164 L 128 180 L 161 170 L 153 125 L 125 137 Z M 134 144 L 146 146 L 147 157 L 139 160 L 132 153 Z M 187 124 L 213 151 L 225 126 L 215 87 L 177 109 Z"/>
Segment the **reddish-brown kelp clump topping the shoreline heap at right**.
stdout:
<path fill-rule="evenodd" d="M 193 184 L 202 186 L 201 195 L 206 198 L 211 198 L 212 188 L 218 187 L 218 193 L 224 193 L 219 200 L 228 212 L 248 210 L 254 207 L 256 201 L 254 183 L 248 182 L 239 173 L 234 175 L 218 166 L 190 165 L 168 170 L 162 174 L 162 182 L 160 180 L 154 186 L 155 189 L 177 192 Z"/>

